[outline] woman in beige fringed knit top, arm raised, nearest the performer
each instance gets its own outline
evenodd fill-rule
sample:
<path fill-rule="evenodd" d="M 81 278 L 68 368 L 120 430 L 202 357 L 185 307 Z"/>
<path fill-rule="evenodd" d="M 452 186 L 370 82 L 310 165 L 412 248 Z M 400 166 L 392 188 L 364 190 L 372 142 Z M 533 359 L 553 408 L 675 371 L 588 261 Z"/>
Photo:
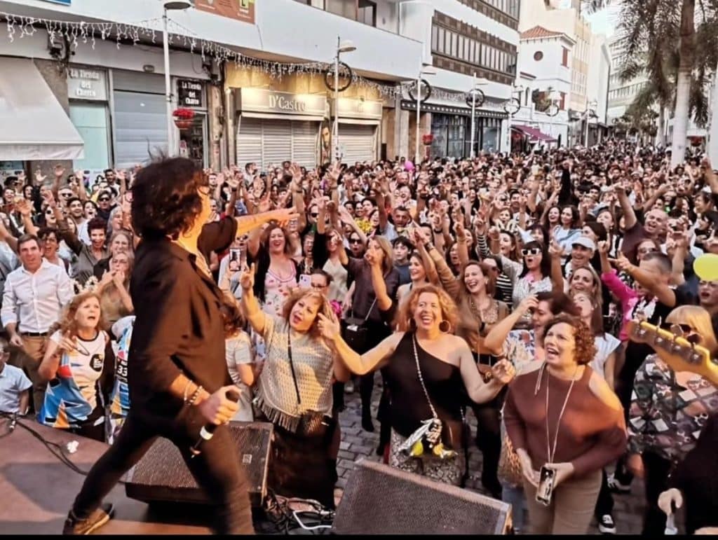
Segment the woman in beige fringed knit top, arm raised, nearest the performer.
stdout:
<path fill-rule="evenodd" d="M 274 424 L 269 487 L 333 508 L 332 380 L 345 381 L 349 372 L 322 338 L 317 316 L 336 318 L 329 301 L 314 289 L 294 290 L 281 316 L 262 311 L 253 292 L 255 268 L 252 264 L 241 275 L 241 305 L 266 346 L 254 404 L 257 420 Z"/>

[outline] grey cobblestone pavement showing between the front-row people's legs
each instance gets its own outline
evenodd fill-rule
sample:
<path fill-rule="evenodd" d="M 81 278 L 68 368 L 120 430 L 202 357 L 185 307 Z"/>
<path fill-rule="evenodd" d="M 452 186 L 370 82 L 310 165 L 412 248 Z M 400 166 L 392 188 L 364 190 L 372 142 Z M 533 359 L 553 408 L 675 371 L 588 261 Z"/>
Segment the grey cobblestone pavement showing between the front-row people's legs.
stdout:
<path fill-rule="evenodd" d="M 377 376 L 373 394 L 373 419 L 375 431 L 365 432 L 361 427 L 361 401 L 358 389 L 353 394 L 345 394 L 346 409 L 340 413 L 339 422 L 342 428 L 342 442 L 337 460 L 337 473 L 339 480 L 335 489 L 335 499 L 340 501 L 342 491 L 347 485 L 354 462 L 360 458 L 368 458 L 372 461 L 380 461 L 376 455 L 376 447 L 379 442 L 379 422 L 376 421 L 376 408 L 378 407 L 379 395 L 381 394 L 381 378 Z M 472 440 L 476 434 L 476 421 L 472 412 L 467 412 L 469 423 L 472 427 Z M 472 444 L 469 451 L 469 473 L 467 489 L 486 495 L 481 485 L 481 453 Z M 641 521 L 643 519 L 643 483 L 635 480 L 631 486 L 631 493 L 626 495 L 614 495 L 613 519 L 616 524 L 617 534 L 640 534 Z M 676 519 L 679 521 L 679 519 Z M 590 529 L 591 534 L 600 534 L 595 522 Z"/>

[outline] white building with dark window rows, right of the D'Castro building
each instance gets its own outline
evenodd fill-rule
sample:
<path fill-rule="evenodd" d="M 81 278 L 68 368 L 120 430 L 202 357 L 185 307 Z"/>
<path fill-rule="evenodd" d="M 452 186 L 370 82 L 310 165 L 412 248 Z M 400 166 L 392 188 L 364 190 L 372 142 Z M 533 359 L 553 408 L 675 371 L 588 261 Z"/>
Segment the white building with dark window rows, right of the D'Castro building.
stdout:
<path fill-rule="evenodd" d="M 418 130 L 416 100 L 409 94 L 401 99 L 401 125 L 409 131 L 409 144 L 400 147 L 401 155 L 414 155 L 417 134 L 422 157 L 508 151 L 509 114 L 504 105 L 516 84 L 520 4 L 518 0 L 401 2 L 401 34 L 424 43 L 419 63 L 436 70 L 424 77 L 435 91 L 421 103 Z M 419 69 L 414 77 L 419 77 Z M 475 81 L 481 82 L 485 98 L 472 122 L 466 96 Z M 432 140 L 424 144 L 427 135 Z M 401 138 L 402 143 L 405 140 Z"/>

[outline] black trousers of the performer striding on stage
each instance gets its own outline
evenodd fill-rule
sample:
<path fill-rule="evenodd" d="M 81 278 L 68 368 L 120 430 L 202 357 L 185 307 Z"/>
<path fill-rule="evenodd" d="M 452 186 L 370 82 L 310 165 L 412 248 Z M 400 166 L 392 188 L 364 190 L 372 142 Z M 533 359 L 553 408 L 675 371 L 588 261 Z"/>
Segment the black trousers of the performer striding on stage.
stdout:
<path fill-rule="evenodd" d="M 114 445 L 90 469 L 73 504 L 75 516 L 85 518 L 95 511 L 122 475 L 162 436 L 177 445 L 190 473 L 215 506 L 215 532 L 253 534 L 248 484 L 227 427 L 218 427 L 212 439 L 202 443 L 202 453 L 190 459 L 190 447 L 203 423 L 191 407 L 182 409 L 175 418 L 131 411 Z"/>

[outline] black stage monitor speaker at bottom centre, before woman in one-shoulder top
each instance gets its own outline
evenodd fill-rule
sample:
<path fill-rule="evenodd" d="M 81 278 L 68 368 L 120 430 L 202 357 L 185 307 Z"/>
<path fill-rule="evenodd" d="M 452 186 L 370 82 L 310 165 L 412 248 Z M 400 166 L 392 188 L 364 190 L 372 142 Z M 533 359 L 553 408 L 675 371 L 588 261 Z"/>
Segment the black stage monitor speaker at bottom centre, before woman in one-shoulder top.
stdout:
<path fill-rule="evenodd" d="M 337 534 L 508 534 L 511 506 L 383 463 L 360 460 L 337 506 Z"/>

